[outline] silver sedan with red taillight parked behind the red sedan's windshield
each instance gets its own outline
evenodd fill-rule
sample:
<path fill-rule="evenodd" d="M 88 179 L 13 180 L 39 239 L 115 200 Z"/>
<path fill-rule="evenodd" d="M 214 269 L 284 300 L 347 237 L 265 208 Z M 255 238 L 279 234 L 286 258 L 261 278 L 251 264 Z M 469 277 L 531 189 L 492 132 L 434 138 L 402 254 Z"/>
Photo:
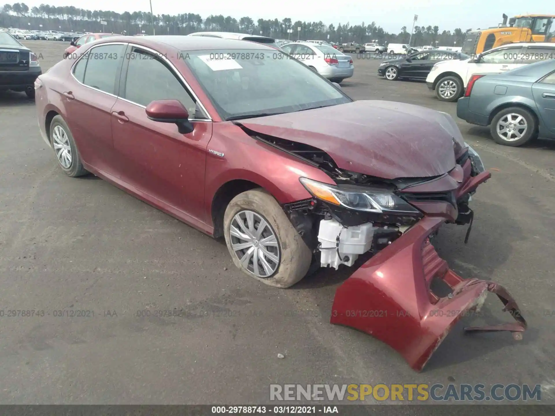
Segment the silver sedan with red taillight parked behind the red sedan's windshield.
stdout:
<path fill-rule="evenodd" d="M 355 72 L 352 58 L 330 45 L 317 45 L 308 42 L 289 43 L 283 45 L 281 50 L 300 60 L 322 77 L 337 84 L 346 78 L 351 78 Z"/>

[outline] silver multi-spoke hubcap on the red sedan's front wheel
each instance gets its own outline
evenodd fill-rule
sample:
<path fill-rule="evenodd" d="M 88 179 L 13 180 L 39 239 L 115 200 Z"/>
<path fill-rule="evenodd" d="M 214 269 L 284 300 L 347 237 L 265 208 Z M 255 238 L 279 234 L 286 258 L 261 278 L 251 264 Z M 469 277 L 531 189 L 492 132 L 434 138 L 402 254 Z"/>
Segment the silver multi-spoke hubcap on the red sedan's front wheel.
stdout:
<path fill-rule="evenodd" d="M 231 221 L 229 234 L 231 248 L 250 273 L 266 278 L 278 270 L 278 239 L 262 216 L 253 211 L 238 212 Z"/>

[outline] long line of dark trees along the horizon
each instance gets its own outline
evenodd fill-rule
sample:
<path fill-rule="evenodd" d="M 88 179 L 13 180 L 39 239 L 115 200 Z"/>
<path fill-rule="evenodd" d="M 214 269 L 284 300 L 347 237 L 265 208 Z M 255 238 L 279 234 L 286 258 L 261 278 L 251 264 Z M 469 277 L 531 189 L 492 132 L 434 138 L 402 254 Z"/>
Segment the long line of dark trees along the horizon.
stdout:
<path fill-rule="evenodd" d="M 103 25 L 100 22 L 106 22 Z M 42 26 L 41 26 L 42 25 Z M 262 34 L 269 37 L 291 40 L 319 39 L 330 42 L 379 42 L 408 43 L 410 32 L 403 26 L 399 33 L 388 33 L 375 22 L 355 24 L 349 22 L 337 26 L 319 22 L 293 22 L 291 18 L 258 19 L 250 17 L 238 19 L 221 14 L 203 18 L 200 14 L 155 14 L 150 12 L 124 12 L 77 8 L 73 6 L 49 6 L 41 4 L 29 7 L 25 3 L 4 4 L 0 9 L 0 27 L 17 27 L 32 30 L 57 30 L 63 32 L 109 32 L 122 34 L 180 34 L 186 35 L 200 31 L 224 31 Z M 300 28 L 300 30 L 299 30 Z M 292 33 L 288 32 L 292 29 Z M 438 26 L 415 26 L 411 45 L 461 45 L 466 32 L 461 28 L 442 31 Z"/>

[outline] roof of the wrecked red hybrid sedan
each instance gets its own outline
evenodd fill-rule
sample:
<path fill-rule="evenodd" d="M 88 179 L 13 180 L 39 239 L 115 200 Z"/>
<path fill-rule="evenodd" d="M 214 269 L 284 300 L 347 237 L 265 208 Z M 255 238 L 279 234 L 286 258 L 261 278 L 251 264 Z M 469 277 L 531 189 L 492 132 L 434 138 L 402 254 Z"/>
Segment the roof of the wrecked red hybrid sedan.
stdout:
<path fill-rule="evenodd" d="M 178 50 L 204 50 L 204 49 L 268 49 L 264 43 L 256 43 L 239 39 L 223 39 L 201 36 L 182 35 L 147 35 L 147 36 L 115 36 L 99 39 L 95 45 L 110 42 L 130 42 L 145 47 L 173 47 Z"/>

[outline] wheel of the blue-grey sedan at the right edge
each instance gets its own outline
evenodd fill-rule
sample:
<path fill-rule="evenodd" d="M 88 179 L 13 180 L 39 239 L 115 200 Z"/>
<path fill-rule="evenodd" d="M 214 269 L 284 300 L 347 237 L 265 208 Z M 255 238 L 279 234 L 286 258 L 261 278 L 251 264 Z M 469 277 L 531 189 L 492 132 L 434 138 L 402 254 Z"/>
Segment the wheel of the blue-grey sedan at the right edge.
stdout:
<path fill-rule="evenodd" d="M 505 146 L 522 146 L 536 133 L 536 119 L 526 109 L 509 107 L 497 113 L 491 121 L 493 140 Z"/>

